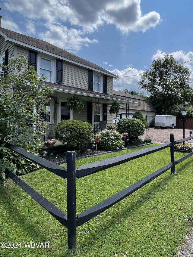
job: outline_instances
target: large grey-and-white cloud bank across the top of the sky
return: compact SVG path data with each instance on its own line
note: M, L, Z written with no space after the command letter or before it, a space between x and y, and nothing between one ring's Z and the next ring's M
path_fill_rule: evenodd
M88 34L103 24L114 24L122 33L144 32L155 27L160 22L160 14L152 10L143 15L140 3L141 0L7 0L3 7L24 16L29 33L34 34L40 27L46 27L46 33L40 35L59 46L61 43L54 37L57 27L63 33L60 39L70 38L69 42L63 42L63 47L67 45L68 49L77 51L82 45L96 42L89 39ZM5 27L10 29L8 22ZM18 31L16 24L11 29Z

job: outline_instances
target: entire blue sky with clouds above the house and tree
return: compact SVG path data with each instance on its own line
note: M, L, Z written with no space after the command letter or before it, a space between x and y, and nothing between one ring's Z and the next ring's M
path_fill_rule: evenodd
M124 77L114 80L115 90L140 92L138 74L165 54L187 62L183 65L193 73L192 0L0 3L2 27L43 39Z

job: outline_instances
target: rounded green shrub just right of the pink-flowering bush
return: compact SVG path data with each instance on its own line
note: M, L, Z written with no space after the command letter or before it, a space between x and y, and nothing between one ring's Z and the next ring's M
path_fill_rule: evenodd
M145 126L143 122L135 118L125 118L120 119L117 123L117 130L120 133L128 133L129 143L134 143L138 141L138 136L142 136L145 131Z

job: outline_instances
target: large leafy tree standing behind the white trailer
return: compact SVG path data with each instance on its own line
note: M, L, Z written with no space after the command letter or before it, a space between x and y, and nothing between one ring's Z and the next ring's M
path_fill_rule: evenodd
M187 67L166 54L163 59L153 60L150 70L143 73L138 84L150 94L149 100L157 114L165 114L172 105L187 103L192 92L190 74Z

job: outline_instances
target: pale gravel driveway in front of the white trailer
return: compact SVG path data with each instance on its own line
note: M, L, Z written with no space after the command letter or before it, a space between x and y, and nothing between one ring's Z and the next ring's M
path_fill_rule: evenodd
M170 134L174 134L174 141L183 138L182 128L149 128L142 138L151 138L153 143L167 143L170 141ZM190 129L185 129L185 138L188 138ZM193 144L193 139L189 141Z

